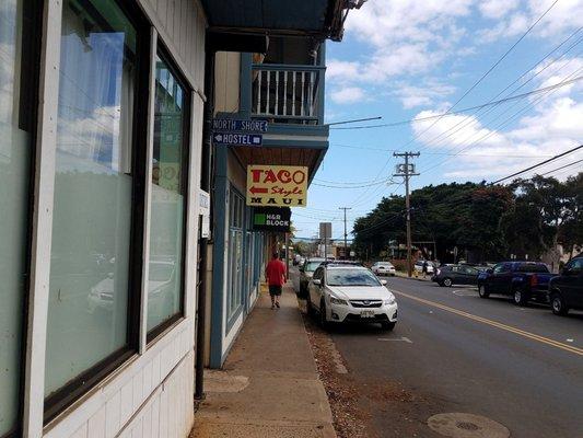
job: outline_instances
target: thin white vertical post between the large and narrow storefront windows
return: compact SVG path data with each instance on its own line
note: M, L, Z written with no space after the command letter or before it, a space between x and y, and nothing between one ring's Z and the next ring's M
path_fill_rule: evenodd
M142 290L140 296L140 341L138 353L143 355L148 337L148 281L150 276L150 222L152 208L152 159L154 155L154 104L155 104L155 64L158 50L158 32L150 30L150 84L148 92L148 134L145 138L145 188L143 201L143 266Z

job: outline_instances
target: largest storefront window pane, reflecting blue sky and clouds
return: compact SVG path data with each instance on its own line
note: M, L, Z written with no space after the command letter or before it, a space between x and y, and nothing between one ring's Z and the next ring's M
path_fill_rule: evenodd
M60 53L49 406L128 347L137 31L114 0L66 0Z

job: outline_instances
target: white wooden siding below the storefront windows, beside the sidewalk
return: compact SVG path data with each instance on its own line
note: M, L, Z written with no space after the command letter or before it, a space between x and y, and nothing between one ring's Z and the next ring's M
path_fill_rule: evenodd
M193 325L185 320L174 327L73 405L45 438L185 438L194 419Z

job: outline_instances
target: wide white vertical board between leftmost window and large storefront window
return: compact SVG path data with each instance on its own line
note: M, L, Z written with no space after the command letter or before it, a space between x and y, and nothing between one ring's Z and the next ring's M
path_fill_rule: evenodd
M48 0L45 2L36 128L31 290L28 293L26 360L24 365L23 436L31 438L40 437L43 433L61 15L61 1Z

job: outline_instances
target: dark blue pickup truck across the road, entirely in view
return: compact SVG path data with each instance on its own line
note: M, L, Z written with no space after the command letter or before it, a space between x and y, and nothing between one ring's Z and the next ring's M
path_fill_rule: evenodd
M544 263L502 262L478 276L478 295L512 296L514 303L526 306L529 300L548 302L549 280L555 277Z

